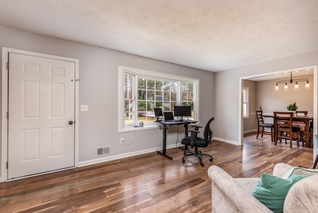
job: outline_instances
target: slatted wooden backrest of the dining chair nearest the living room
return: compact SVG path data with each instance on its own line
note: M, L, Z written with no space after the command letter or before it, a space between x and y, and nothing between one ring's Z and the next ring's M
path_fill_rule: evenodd
M293 112L274 111L274 125L278 131L292 131L293 128Z

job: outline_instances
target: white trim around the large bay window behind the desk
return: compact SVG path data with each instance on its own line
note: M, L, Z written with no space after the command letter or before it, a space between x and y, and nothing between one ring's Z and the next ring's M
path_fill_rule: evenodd
M194 81L193 85L193 93L196 97L195 100L195 107L194 107L194 117L196 120L199 119L199 79L191 78L191 77L184 77L184 76L177 76L177 75L171 75L166 73L159 73L149 70L142 70L142 69L136 69L131 67L125 67L125 66L118 66L118 132L126 132L126 131L136 131L136 130L145 130L145 129L154 129L158 128L158 125L156 122L153 124L147 123L144 127L134 127L133 125L125 126L124 123L124 75L126 73L131 73L136 76L144 76L149 78L159 78L159 79L166 79L168 81ZM137 81L135 81L135 88L137 88ZM178 94L179 94L180 88L178 88ZM136 94L135 94L136 95ZM137 97L137 96L136 96ZM178 97L179 99L179 97ZM179 100L178 100L178 104ZM199 121L199 120L198 120ZM137 125L137 124L135 124Z

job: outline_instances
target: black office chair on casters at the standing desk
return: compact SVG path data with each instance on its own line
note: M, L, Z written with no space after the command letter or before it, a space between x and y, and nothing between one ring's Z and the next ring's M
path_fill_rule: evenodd
M195 155L199 159L201 166L204 166L204 164L202 163L202 159L200 156L209 156L210 161L213 161L213 158L211 155L204 154L204 153L201 153L201 151L198 151L198 147L207 147L211 143L213 132L210 128L210 123L212 122L212 120L214 120L214 117L211 117L209 119L209 121L207 122L204 128L204 132L203 132L204 138L197 137L197 134L199 133L199 128L202 128L202 126L193 125L194 130L192 129L188 130L188 132L191 132L191 136L185 137L181 140L181 144L190 145L191 148L193 148L194 146L194 151L193 150L184 151L183 157L182 157L183 163L185 162L184 158L190 155Z

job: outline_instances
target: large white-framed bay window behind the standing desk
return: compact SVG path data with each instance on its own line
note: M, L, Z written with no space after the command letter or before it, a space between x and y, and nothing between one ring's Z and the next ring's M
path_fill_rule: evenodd
M155 107L191 106L189 119L198 119L198 79L128 67L118 71L118 131L137 130L140 121L144 128L157 127Z

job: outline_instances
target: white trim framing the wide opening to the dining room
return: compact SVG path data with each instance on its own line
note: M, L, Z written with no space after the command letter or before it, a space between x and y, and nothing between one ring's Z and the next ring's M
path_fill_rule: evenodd
M276 72L270 72L270 73L262 73L257 75L251 75L251 76L244 76L239 78L239 145L243 145L243 111L242 111L242 105L243 105L243 98L242 98L242 88L243 88L243 80L249 79L249 78L255 78L255 77L261 77L261 76L269 76L269 75L275 75L275 74L281 74L281 73L290 73L295 72L299 70L306 70L306 69L313 69L314 70L314 134L317 134L317 128L318 128L318 65L308 66L308 67L300 67L295 69L289 69L289 70L281 70ZM312 86L311 86L312 87ZM314 160L315 160L314 156Z

